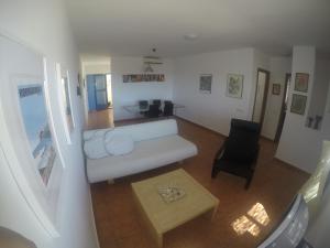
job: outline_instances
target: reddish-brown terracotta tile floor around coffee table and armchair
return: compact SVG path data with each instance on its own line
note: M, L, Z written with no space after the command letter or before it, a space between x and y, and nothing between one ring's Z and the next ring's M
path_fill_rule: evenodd
M132 121L130 121L132 122ZM123 123L117 123L123 125ZM196 218L164 236L164 248L253 248L279 222L286 207L308 174L273 159L276 145L261 139L261 153L251 187L245 181L226 173L211 179L211 164L224 138L215 132L178 119L179 133L197 144L199 154L183 164L117 180L113 185L91 185L94 211L101 248L155 248L132 197L131 182L184 168L199 183L220 200L213 222ZM107 126L105 126L107 127ZM268 217L267 226L258 225L260 234L238 235L231 224L256 203L263 204ZM251 218L250 218L251 219ZM254 222L256 224L256 222Z

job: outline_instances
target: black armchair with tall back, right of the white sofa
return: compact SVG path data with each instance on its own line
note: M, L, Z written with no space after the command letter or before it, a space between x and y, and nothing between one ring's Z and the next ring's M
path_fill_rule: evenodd
M229 137L213 161L212 177L224 171L245 177L245 188L249 188L260 150L260 125L252 121L231 120Z

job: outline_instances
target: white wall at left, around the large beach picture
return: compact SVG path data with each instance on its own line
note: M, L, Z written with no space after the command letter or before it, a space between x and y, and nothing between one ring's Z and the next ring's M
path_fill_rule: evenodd
M76 95L78 54L65 7L58 0L2 1L0 8L0 32L20 40L24 44L43 53L48 61L51 107L58 133L61 151L66 163L62 195L59 198L59 234L52 239L41 227L38 219L26 204L9 172L6 154L0 151L0 225L10 227L42 248L95 248L97 247L90 204L89 185L85 179L84 158L81 153L81 99ZM65 141L64 127L57 103L55 84L55 62L69 69L73 96L73 112L77 127L72 133L73 144ZM0 82L1 84L1 82ZM2 130L2 129L1 129ZM1 145L8 144L0 136Z

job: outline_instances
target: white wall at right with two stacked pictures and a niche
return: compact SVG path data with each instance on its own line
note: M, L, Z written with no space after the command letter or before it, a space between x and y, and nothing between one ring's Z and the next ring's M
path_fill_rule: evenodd
M330 137L330 115L324 116L321 130L306 128L307 110L314 85L316 52L315 47L295 46L293 53L293 83L289 89L288 108L292 105L294 78L296 73L309 74L308 103L304 116L287 111L276 158L293 164L304 171L314 172L321 152L323 139ZM329 94L328 94L329 96Z

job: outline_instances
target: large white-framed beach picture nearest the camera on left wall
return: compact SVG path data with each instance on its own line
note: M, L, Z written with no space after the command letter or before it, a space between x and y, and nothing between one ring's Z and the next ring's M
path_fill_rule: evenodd
M10 62L0 71L0 105L9 106L0 108L1 153L35 218L56 238L64 170L50 97L57 95L56 83L48 82L46 61L38 52L1 35L0 50Z

